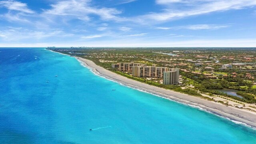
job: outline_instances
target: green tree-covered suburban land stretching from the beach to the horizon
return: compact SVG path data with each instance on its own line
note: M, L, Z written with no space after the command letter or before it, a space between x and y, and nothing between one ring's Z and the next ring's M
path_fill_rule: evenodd
M246 95L256 95L255 48L232 48L232 50L225 48L53 48L52 50L92 60L107 70L152 86L199 97L202 97L200 91L207 92L210 96L218 94L218 96L233 98L241 102L255 103L251 96ZM174 53L177 56L161 53ZM251 59L246 59L248 57ZM131 72L118 72L113 69L111 64L118 62L178 67L182 76L181 84L163 85L160 84L160 79L135 78L130 75ZM196 66L196 63L200 63L200 66ZM238 63L238 65L233 63ZM232 68L222 68L224 64L232 64ZM245 94L243 98L238 98L216 91L216 89L223 88L239 90Z

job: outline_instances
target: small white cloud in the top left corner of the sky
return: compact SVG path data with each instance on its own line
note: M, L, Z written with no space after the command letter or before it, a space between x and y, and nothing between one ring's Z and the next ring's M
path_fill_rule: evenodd
M22 3L22 2L18 2L15 0L3 0L0 1L0 7L5 7L8 10L15 10L15 11L20 11L20 12L24 12L27 14L33 14L34 11L30 10L27 6L27 4Z

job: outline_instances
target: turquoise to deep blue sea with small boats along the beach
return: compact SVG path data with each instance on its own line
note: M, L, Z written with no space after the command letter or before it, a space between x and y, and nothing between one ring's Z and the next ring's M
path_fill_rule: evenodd
M106 80L69 56L0 48L0 144L34 143L256 144L256 130Z

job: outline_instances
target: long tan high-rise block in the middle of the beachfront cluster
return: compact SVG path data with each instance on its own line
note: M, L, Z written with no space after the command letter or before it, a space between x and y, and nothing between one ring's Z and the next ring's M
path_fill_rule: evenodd
M133 66L132 76L163 78L164 72L168 72L170 68L156 66Z

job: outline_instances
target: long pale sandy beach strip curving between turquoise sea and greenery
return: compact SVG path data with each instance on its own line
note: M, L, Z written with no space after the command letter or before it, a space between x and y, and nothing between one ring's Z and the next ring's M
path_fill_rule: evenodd
M256 128L256 113L250 112L248 110L242 110L239 108L235 108L232 106L225 106L218 102L212 102L209 100L204 100L202 98L198 98L195 96L190 96L187 94L182 94L179 92L174 92L171 90L166 90L163 88L158 88L156 86L150 86L148 84L144 84L142 82L138 82L136 80L131 80L124 76L120 76L114 72L106 70L100 66L97 66L91 60L87 60L80 57L75 57L77 60L82 62L88 68L91 68L93 72L96 74L103 76L107 79L114 80L116 82L120 82L125 86L130 86L132 88L140 89L146 92L150 92L152 94L156 94L158 96L162 96L164 98L168 98L170 100L175 100L178 102L182 102L184 104L189 104L191 106L196 106L207 110L208 112L212 112L218 116L222 116L228 118L232 121L236 121L236 123L244 123L248 126Z

